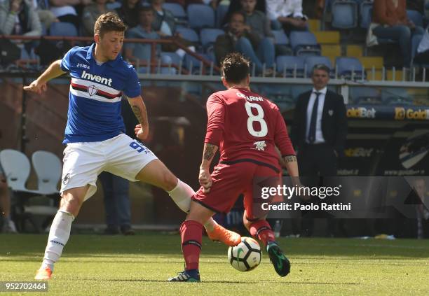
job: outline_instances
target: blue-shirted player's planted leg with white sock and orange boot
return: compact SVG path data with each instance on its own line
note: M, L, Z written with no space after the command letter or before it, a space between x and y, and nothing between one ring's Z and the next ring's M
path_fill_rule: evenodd
M79 213L88 186L66 190L61 199L60 209L50 226L48 244L35 280L46 281L53 273L54 263L60 259L62 249L70 237L71 223Z

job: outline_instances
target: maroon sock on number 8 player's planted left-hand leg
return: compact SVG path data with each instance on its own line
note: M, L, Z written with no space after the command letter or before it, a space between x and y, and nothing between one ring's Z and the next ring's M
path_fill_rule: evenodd
M203 225L193 220L186 220L180 226L182 234L182 252L186 263L185 269L198 269L200 260Z

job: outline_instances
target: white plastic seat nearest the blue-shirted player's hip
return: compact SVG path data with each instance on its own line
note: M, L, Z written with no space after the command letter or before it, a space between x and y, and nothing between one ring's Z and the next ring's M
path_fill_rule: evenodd
M43 195L58 194L57 183L61 178L62 165L57 155L39 150L32 155L37 175L38 191Z

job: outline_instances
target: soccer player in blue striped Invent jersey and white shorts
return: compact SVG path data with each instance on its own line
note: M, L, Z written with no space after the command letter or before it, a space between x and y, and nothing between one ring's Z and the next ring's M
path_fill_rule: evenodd
M142 181L167 191L185 212L195 192L139 141L124 134L121 97L128 102L139 120L135 134L144 140L149 134L146 106L141 86L132 65L121 57L126 27L114 13L100 15L94 26L95 43L71 48L61 59L50 64L39 78L24 90L41 92L46 83L68 72L71 76L69 111L65 129L61 203L52 226L41 268L36 280L50 279L54 263L69 239L71 223L83 202L97 190L97 176L109 171L130 181ZM214 220L205 225L213 240L228 245L240 242L240 235L226 230Z

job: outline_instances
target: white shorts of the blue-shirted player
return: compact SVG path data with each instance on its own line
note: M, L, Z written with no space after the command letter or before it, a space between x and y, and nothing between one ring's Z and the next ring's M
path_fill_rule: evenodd
M64 149L61 190L90 185L85 199L97 191L97 176L102 171L138 181L136 176L158 157L139 141L126 134L101 142L68 143Z

